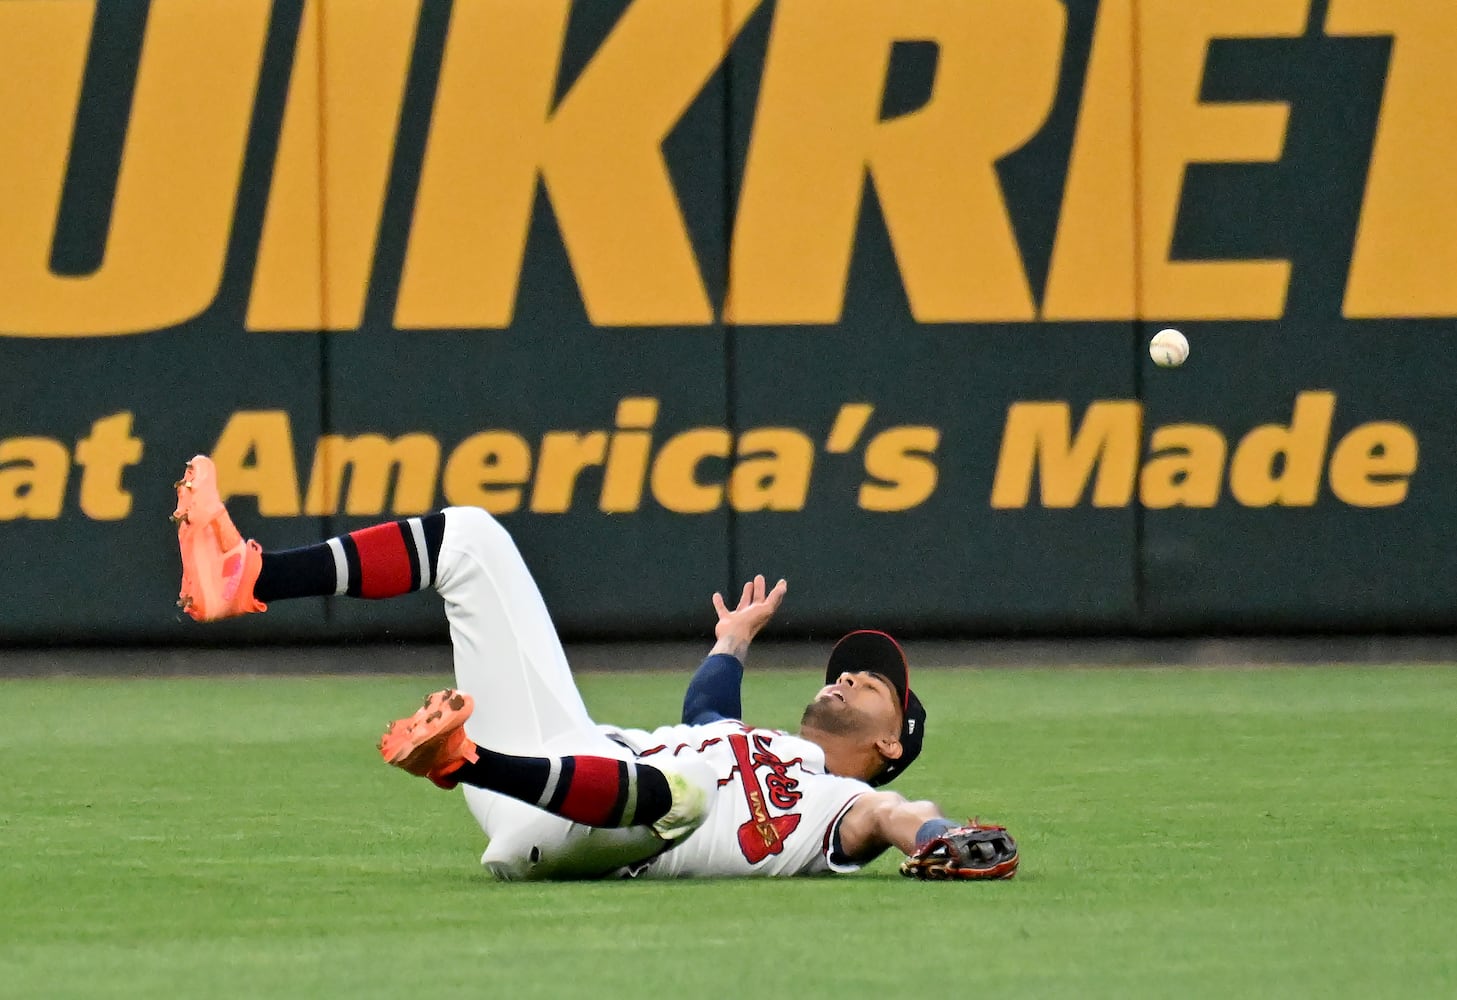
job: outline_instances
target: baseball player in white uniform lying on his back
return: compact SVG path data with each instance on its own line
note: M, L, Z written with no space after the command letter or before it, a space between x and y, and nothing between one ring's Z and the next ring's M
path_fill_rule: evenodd
M884 633L835 646L798 735L740 722L743 657L784 580L768 589L755 577L733 609L714 595L717 643L679 724L618 729L589 717L536 583L485 510L447 507L265 552L233 526L207 456L176 490L178 605L198 621L302 596L440 593L456 687L390 724L380 752L463 787L490 841L481 863L500 879L852 872L892 845L912 862L944 853L959 832L935 805L873 787L909 767L925 735L905 656ZM1016 845L1001 840L965 878L1014 873Z

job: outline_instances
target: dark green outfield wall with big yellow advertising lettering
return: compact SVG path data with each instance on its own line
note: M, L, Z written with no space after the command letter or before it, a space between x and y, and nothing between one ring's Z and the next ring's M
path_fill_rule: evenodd
M571 637L1457 627L1457 7L6 0L0 641L478 504ZM1147 341L1183 329L1190 360Z

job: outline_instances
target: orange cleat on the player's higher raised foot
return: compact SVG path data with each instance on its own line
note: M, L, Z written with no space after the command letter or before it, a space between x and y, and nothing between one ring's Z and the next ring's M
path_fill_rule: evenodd
M243 541L217 493L217 468L198 455L176 481L178 506L172 523L182 550L182 587L178 606L197 621L217 621L268 605L254 598L264 566L262 548Z

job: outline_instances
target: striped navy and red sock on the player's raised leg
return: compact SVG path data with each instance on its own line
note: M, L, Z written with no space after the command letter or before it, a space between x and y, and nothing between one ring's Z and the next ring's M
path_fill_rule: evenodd
M393 598L436 582L444 513L390 520L351 531L316 545L264 552L254 596L262 602L288 598Z

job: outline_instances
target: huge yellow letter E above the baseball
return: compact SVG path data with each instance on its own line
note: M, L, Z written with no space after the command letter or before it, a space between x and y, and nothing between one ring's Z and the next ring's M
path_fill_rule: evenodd
M1174 261L1170 252L1189 163L1275 162L1285 144L1289 108L1284 102L1199 101L1209 41L1298 36L1308 7L1310 0L1141 6L1103 0L1045 318L1273 319L1284 313L1289 261ZM1128 102L1131 93L1136 108ZM1135 274L1131 220L1139 219Z

